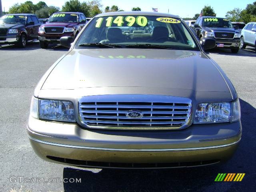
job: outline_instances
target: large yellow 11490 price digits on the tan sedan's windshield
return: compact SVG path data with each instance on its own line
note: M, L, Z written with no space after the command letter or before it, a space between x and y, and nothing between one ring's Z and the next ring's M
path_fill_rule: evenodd
M96 20L96 28L100 28L100 26L102 25L102 22L104 21L104 18L100 17ZM144 16L138 16L138 17L134 17L134 16L126 16L125 18L123 16L117 16L115 19L114 17L108 17L105 19L106 21L106 27L111 27L113 24L118 26L118 27L122 27L122 26L141 26L144 27L148 24L148 19Z

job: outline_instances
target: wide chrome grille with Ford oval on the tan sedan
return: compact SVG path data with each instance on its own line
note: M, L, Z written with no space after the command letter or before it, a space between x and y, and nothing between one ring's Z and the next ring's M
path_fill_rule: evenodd
M131 117L131 112L141 116ZM188 124L190 114L191 100L172 96L105 95L79 100L80 119L92 128L179 129Z

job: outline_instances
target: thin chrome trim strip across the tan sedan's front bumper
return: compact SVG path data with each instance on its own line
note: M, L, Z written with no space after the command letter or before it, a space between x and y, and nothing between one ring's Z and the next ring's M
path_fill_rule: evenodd
M68 147L68 148L78 148L78 149L86 149L86 150L102 150L102 151L140 151L140 152L150 152L150 151L190 151L190 150L204 150L204 149L215 149L215 148L221 148L221 147L228 147L232 146L234 144L237 144L240 142L241 138L233 143L224 144L224 145L217 145L217 146L209 146L209 147L194 147L194 148L175 148L175 149L113 149L113 148L100 148L100 147L86 147L86 146L74 146L74 145L66 145L66 144L58 144L58 143L52 143L47 141L38 140L35 138L32 138L31 136L28 136L31 140L35 142L39 142L42 144L47 145L53 145L58 147Z

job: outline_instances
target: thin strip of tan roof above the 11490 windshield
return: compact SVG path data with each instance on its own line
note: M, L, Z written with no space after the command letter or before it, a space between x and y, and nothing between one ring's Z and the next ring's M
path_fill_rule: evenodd
M159 12L143 12L143 11L118 11L118 12L108 12L96 15L96 17L104 16L116 16L116 15L144 15L144 16L159 16L159 17L172 17L180 19L177 15L159 13Z

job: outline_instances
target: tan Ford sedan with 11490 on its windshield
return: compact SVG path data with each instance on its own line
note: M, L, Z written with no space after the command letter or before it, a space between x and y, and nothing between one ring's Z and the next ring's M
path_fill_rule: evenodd
M178 16L99 14L74 42L66 36L60 43L70 50L44 74L31 101L27 130L40 158L173 168L225 162L236 151L238 95L204 52L216 42L200 44Z

